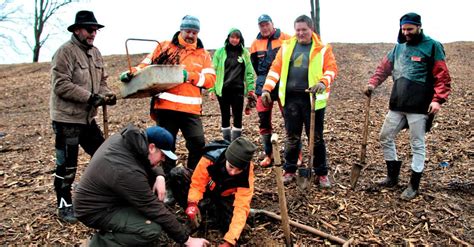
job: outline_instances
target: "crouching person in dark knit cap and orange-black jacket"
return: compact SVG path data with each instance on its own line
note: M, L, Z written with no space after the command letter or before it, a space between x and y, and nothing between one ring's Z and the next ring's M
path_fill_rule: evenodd
M206 145L204 155L192 173L184 167L171 171L173 193L189 219L203 217L216 223L224 234L220 247L234 246L250 212L254 191L252 158L256 146L244 137ZM213 224L208 224L213 227Z

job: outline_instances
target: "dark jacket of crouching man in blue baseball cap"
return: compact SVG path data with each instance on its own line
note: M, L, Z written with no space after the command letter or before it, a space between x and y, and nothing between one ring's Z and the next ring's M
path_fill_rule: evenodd
M125 127L99 147L82 175L74 197L76 216L100 229L111 212L133 207L176 242L186 242L189 236L176 216L153 193L157 175L164 173L151 168L146 134L133 125Z

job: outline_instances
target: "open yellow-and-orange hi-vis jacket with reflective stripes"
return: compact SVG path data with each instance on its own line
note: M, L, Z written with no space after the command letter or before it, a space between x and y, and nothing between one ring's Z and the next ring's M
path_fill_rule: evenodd
M318 110L327 105L327 100L331 91L331 84L337 75L337 65L334 54L332 53L332 47L329 44L324 45L315 33L312 35L312 41L308 66L308 86L312 87L318 82L323 82L324 85L326 85L326 91L316 96L315 109ZM272 67L268 72L265 85L263 86L264 90L271 92L278 81L280 81L278 93L283 106L285 105L286 82L288 80L290 59L293 49L296 46L296 42L296 36L283 42L282 47L280 51L278 51L275 61L273 61Z

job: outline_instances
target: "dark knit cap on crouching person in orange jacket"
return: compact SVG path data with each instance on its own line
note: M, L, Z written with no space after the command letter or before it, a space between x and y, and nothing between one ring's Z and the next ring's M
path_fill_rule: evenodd
M256 149L257 147L252 142L239 137L229 145L225 151L225 158L233 166L245 170L250 165Z

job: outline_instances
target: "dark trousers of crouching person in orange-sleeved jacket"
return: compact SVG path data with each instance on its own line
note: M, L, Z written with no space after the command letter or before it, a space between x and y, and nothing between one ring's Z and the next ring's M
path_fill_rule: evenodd
M191 177L192 171L182 166L173 168L170 173L169 180L173 195L183 209L188 206ZM203 199L198 204L202 219L211 222L211 227L215 226L222 233L226 233L234 215L234 200L234 195L221 196L206 188ZM203 224L207 223L203 222Z

